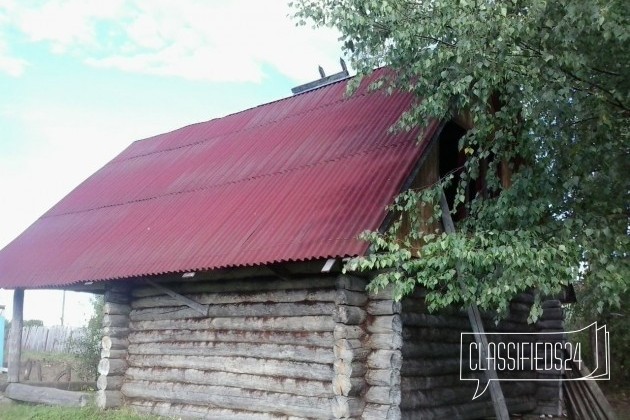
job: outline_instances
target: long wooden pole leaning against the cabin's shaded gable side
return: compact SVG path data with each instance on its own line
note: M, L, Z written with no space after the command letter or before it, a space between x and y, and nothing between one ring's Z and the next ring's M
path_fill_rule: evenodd
M451 218L451 210L448 207L448 202L446 201L446 195L444 191L442 191L442 196L440 197L440 207L442 209L442 224L444 225L444 230L448 234L455 233L455 224L453 223L453 219ZM459 277L459 268L457 269L457 277L460 282L460 286L463 288L464 283ZM481 314L479 313L479 308L477 305L470 305L468 307L468 319L470 320L470 325L472 327L473 332L475 333L475 341L479 345L481 357L480 362L484 366L486 380L489 382L490 388L490 396L492 397L492 405L494 407L494 413L496 418L499 420L509 420L510 414L507 409L507 404L505 403L505 397L503 396L503 391L501 390L501 384L498 381L499 377L497 376L496 370L492 366L487 365L484 361L487 360L487 351L488 351L488 338L485 335L485 331L483 328L483 321L481 319Z

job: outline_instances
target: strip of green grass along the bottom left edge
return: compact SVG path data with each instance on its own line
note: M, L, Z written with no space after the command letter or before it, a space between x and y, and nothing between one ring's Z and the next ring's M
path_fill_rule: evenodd
M3 404L1 420L157 420L159 417L136 414L128 409L101 411L95 407L67 408L29 404Z

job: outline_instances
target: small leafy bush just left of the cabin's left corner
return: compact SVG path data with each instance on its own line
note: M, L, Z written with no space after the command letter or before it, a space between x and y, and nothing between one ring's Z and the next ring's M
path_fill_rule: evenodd
M79 359L78 374L86 380L96 379L98 362L101 358L101 329L103 326L103 296L92 298L93 313L85 327L85 334L70 343L70 351Z

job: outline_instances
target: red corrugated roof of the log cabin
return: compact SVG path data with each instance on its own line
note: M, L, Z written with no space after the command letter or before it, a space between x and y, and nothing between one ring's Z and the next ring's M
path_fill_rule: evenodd
M420 156L411 104L335 83L136 141L0 251L1 287L362 254ZM430 136L437 124L430 124Z

